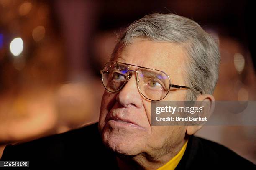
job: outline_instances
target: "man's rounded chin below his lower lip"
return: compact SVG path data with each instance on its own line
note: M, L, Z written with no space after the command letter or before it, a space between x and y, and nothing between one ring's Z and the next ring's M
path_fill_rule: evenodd
M138 155L142 152L140 138L134 134L114 133L106 129L102 133L102 141L106 147L120 155Z

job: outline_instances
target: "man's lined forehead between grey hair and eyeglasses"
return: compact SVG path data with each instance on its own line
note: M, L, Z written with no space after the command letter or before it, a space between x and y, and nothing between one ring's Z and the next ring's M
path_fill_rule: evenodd
M136 38L116 51L113 60L178 74L184 70L186 57L179 44Z

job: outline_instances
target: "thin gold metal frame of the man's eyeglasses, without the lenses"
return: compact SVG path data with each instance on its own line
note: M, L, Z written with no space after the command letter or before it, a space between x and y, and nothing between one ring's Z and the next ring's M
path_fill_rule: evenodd
M109 91L110 93L116 93L116 92L120 91L121 89L123 89L123 87L125 86L125 84L126 84L126 83L129 81L129 79L131 79L131 77L132 77L132 74L130 73L130 71L131 71L131 72L136 72L136 84L137 84L137 88L138 88L140 94L142 94L146 99L148 99L148 97L146 97L146 96L141 92L141 89L140 89L139 86L138 86L138 82L139 82L139 80L138 80L138 70L139 70L140 68L160 71L160 72L164 73L164 74L168 77L168 79L169 79L169 89L168 89L168 92L166 93L166 95L165 95L162 99L164 99L164 98L167 96L167 94L169 93L171 87L177 88L177 89L180 89L180 88L191 89L190 87L187 87L187 86L180 86L180 85L176 85L176 84L171 84L171 79L170 79L169 75L166 74L164 71L161 71L161 70L151 69L151 68L142 67L142 66L136 66L136 65L133 65L133 64L122 63L122 62L119 62L119 61L108 61L107 63L105 63L104 68L105 68L105 66L106 66L108 63L113 63L113 64L115 64L115 63L120 63L120 64L124 64L124 65L126 65L126 66L128 67L128 71L127 71L128 76L125 78L125 82L123 83L123 85L122 85L117 91L109 91L109 90L105 87L104 82L103 82L103 73L104 73L104 71L103 71L103 70L100 70L102 84L103 84L103 86L105 87L105 89L106 89L107 91ZM137 70L131 70L131 69L130 69L130 66L136 66L136 67L138 67L138 69L137 69ZM128 72L129 72L130 74L129 74ZM159 99L159 100L162 100L162 99ZM148 99L148 100L151 100L151 101L159 101L159 100L152 100L152 99Z

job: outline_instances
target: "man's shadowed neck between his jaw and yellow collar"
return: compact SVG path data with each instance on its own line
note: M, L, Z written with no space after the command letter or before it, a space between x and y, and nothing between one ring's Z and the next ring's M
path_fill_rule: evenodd
M184 142L172 148L169 152L157 154L141 153L135 156L118 155L117 162L120 170L156 170L165 165L182 149Z

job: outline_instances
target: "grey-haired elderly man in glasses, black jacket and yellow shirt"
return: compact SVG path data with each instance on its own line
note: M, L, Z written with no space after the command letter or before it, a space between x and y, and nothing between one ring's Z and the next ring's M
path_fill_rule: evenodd
M106 90L99 122L8 145L2 160L94 169L255 168L227 148L194 137L201 126L151 125L151 101L214 101L219 63L218 45L194 21L146 15L124 30L101 71Z

